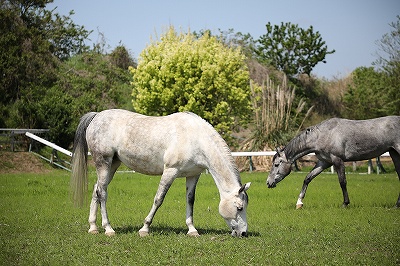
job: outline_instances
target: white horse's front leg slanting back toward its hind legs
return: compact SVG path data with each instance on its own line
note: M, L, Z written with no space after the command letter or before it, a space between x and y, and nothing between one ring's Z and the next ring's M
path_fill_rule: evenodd
M172 182L175 180L177 175L178 170L175 168L164 169L164 172L161 176L160 184L158 185L157 193L154 197L153 206L151 207L151 210L147 217L144 219L143 227L139 230L140 236L147 236L149 234L149 227L153 222L154 215L163 203L165 195L167 194L169 188L172 185Z

